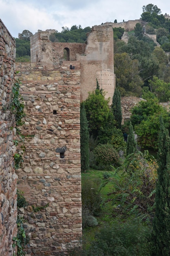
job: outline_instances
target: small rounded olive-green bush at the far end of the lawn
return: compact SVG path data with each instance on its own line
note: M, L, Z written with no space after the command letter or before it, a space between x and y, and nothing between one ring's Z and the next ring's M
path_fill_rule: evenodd
M94 149L95 159L97 164L117 164L119 161L119 155L113 145L111 144L99 144Z

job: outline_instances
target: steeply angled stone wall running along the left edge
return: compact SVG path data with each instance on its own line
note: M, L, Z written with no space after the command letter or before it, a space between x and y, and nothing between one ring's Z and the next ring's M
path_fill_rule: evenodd
M14 83L15 41L0 20L0 255L12 256L17 235L16 178L13 169L14 117L10 114Z

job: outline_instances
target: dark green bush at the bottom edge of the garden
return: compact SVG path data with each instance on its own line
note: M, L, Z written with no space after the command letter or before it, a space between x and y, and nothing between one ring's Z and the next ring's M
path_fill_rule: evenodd
M150 229L139 221L115 222L99 230L87 255L149 256L149 236Z

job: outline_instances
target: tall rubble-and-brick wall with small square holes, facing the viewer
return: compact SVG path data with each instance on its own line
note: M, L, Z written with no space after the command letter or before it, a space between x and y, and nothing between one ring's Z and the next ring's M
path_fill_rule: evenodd
M17 63L16 70L26 112L24 162L17 171L29 202L26 255L65 255L66 245L82 237L80 70L46 63Z

